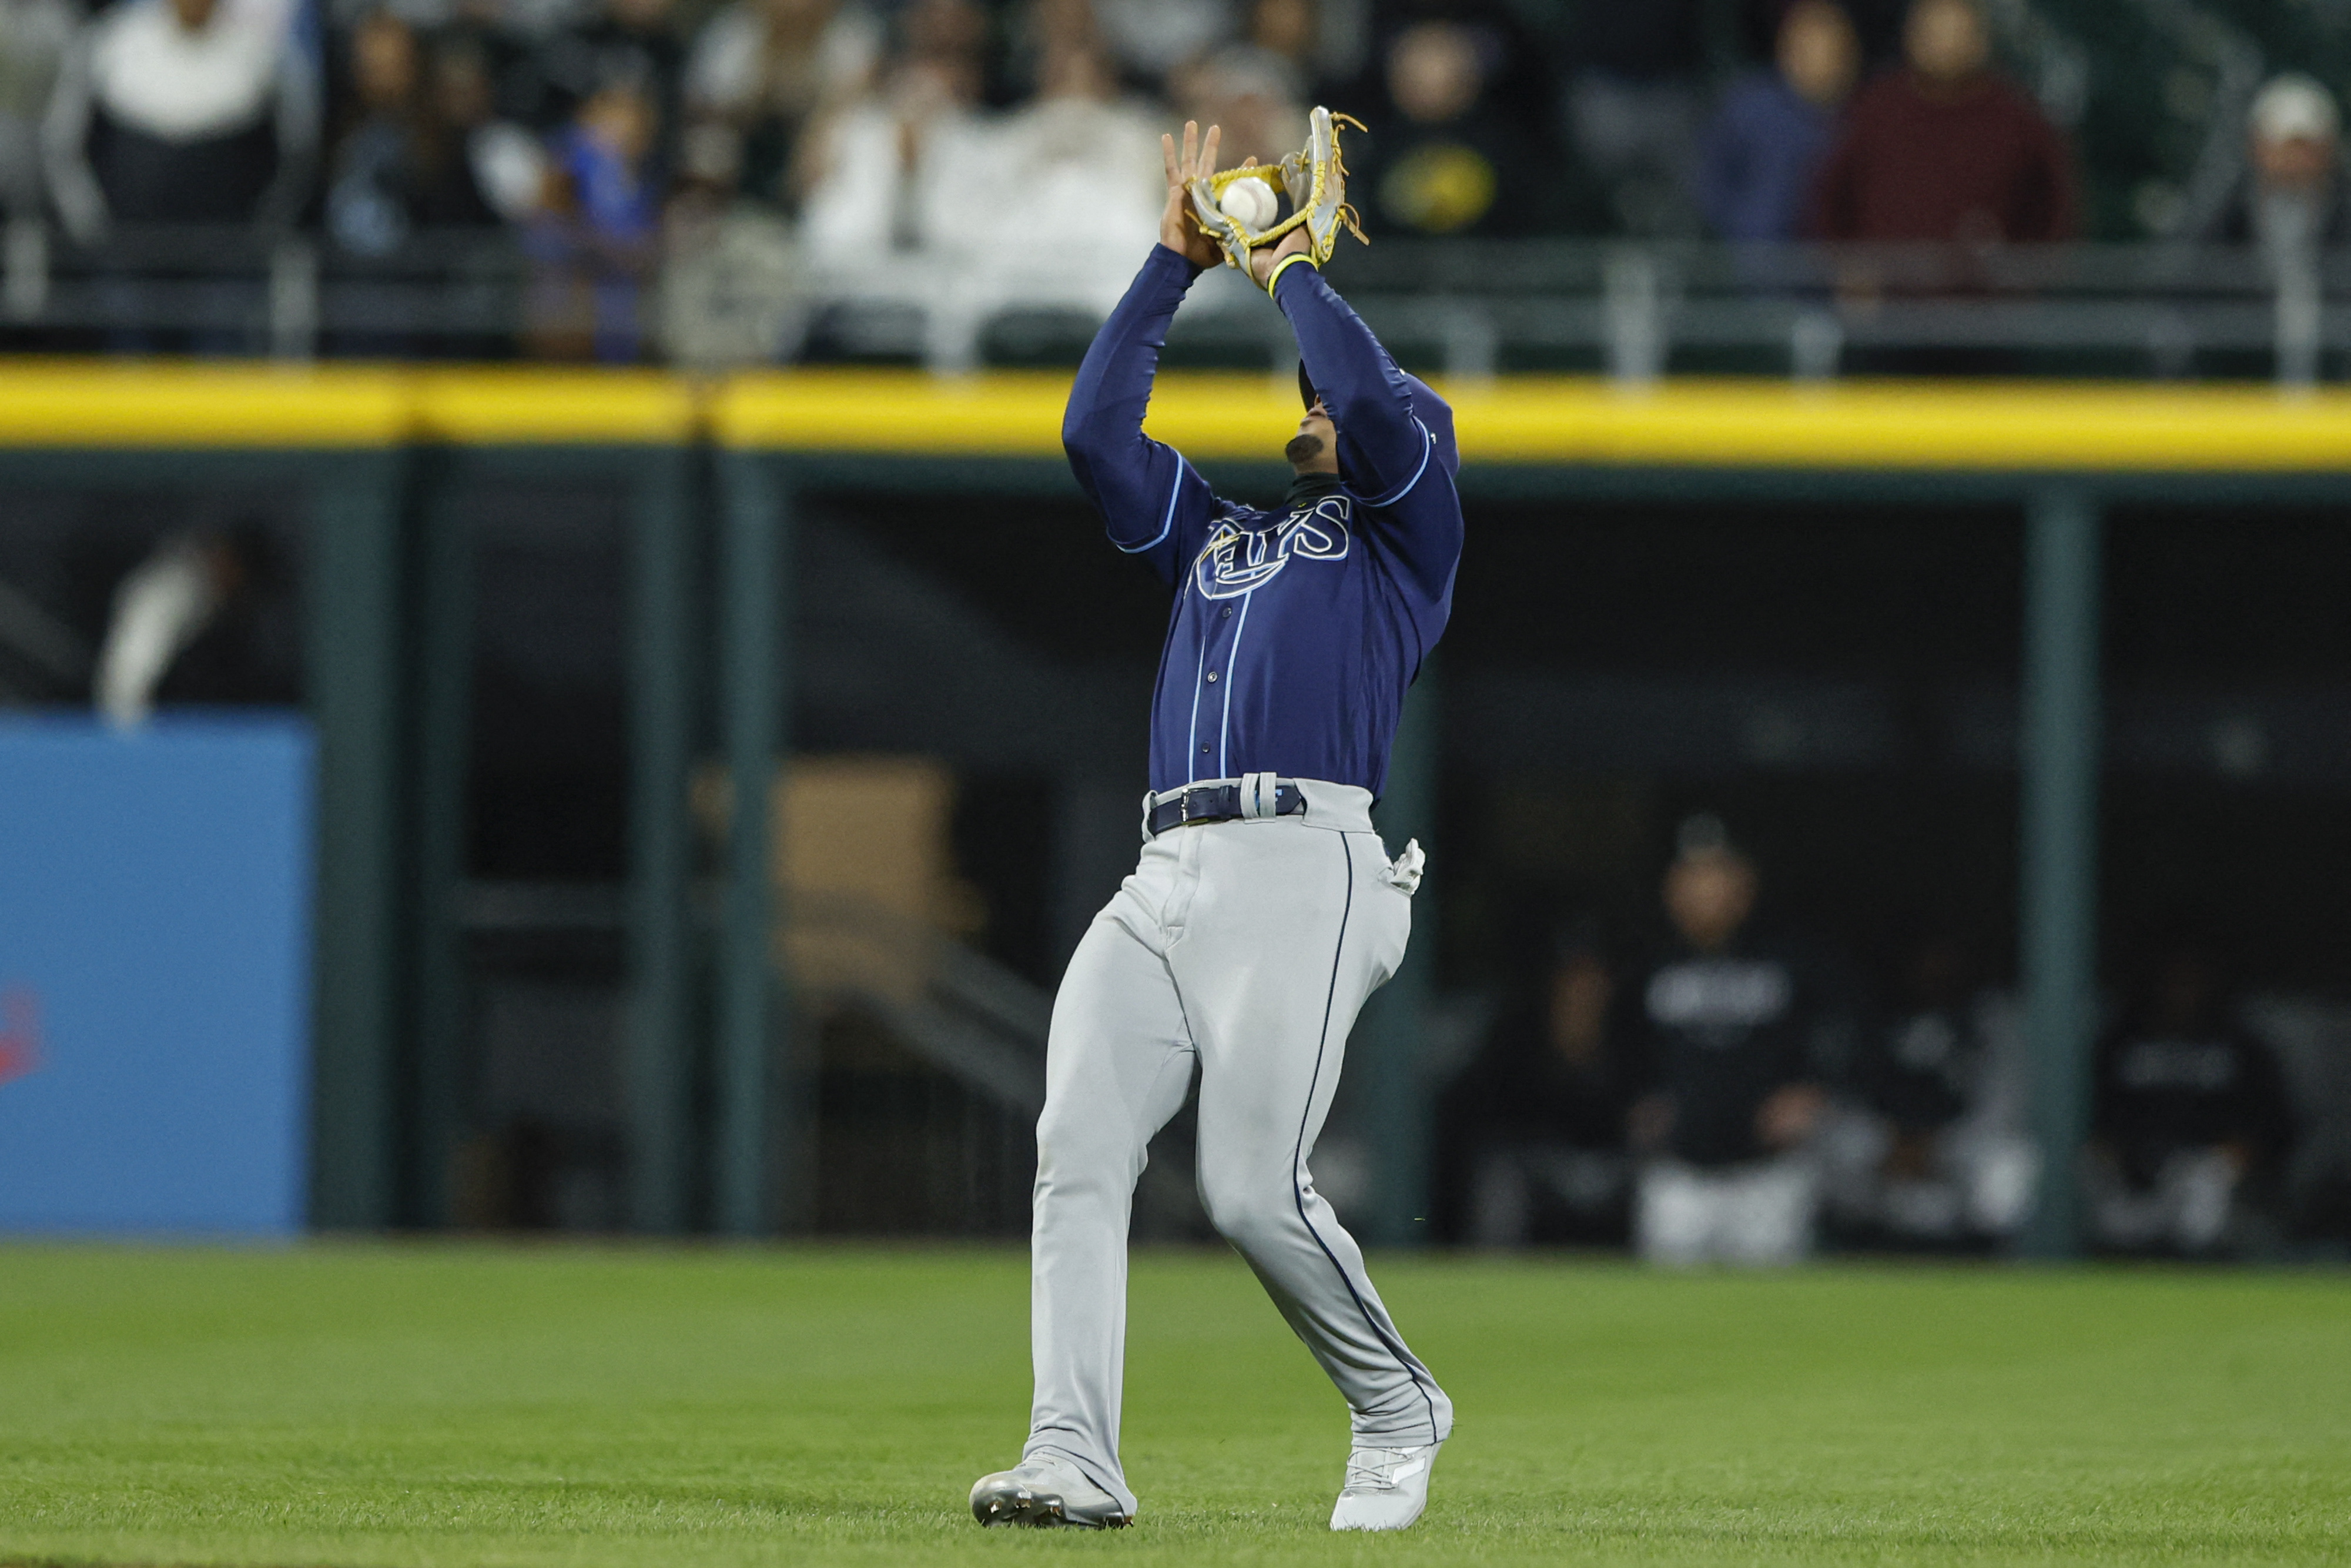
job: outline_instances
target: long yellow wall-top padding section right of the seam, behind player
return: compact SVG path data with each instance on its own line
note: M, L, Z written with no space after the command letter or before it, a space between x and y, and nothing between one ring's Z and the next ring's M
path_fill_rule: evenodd
M717 437L778 451L1058 456L1067 376L776 374L729 383ZM1502 378L1441 388L1462 461L1617 468L2351 470L2351 395L2109 383ZM1164 376L1147 428L1194 458L1274 461L1295 383Z

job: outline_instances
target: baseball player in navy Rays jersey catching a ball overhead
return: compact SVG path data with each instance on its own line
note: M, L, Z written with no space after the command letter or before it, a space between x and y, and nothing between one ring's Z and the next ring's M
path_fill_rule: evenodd
M1143 557L1176 604L1152 698L1143 860L1053 1001L1030 1439L1016 1469L971 1488L971 1512L980 1523L1133 1521L1119 1467L1126 1225L1145 1145L1197 1072L1208 1218L1352 1413L1331 1528L1399 1530L1427 1502L1453 1401L1406 1349L1307 1159L1357 1009L1404 957L1420 882L1420 849L1389 860L1371 804L1404 691L1453 602L1453 414L1331 292L1314 235L1298 228L1237 254L1298 336L1307 411L1284 449L1286 503L1227 501L1143 435L1168 320L1218 261L1187 207L1187 181L1215 167L1218 129L1194 141L1194 125L1180 153L1164 139L1159 247L1093 339L1063 421L1110 543ZM1321 197L1335 214L1331 165Z

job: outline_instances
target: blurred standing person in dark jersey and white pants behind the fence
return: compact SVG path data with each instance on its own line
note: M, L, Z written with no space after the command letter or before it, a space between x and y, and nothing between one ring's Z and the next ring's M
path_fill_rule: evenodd
M1641 987L1653 1088L1632 1112L1650 1157L1634 1234L1653 1262L1796 1262L1813 1248L1822 1004L1784 950L1747 933L1756 891L1719 818L1681 825L1665 875L1676 947Z

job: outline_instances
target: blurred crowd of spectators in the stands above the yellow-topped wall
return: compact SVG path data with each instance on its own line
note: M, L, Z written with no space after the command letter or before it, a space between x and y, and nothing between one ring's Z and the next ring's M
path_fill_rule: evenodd
M2346 73L2330 0L7 0L5 327L33 348L1065 360L1081 331L1002 317L1117 296L1154 233L1159 132L1213 120L1232 162L1277 158L1319 101L1368 127L1347 160L1373 237L1448 242L1366 261L1366 287L1603 294L1617 339L1660 289L1667 313L1709 280L1813 294L1834 308L1789 353L1834 369L1888 296L2323 296L2351 233ZM1925 254L1780 254L1815 242ZM2245 261L1994 261L2069 242ZM1446 331L1436 357L1491 369L1460 341L1476 324ZM1944 331L1897 367L2017 369L2085 331ZM1545 334L1500 336L1523 357ZM2088 336L2182 374L2245 334L2139 313Z

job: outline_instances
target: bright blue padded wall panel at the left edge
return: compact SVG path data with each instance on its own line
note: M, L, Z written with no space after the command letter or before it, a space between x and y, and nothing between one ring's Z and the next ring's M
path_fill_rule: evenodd
M0 1229L301 1227L310 835L299 717L0 719Z

